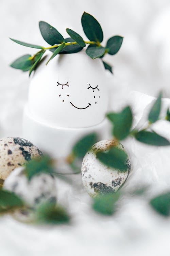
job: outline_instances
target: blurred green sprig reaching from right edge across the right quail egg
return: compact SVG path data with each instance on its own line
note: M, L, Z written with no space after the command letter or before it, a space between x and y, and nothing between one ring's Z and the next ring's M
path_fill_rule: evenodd
M155 100L151 110L148 113L148 125L146 128L132 129L133 124L133 113L130 106L126 106L122 111L115 113L109 112L106 117L112 123L112 134L113 140L116 142L112 147L109 147L106 151L97 151L96 157L104 163L106 166L111 168L119 169L122 172L127 171L126 160L128 158L126 152L120 150L116 145L125 140L126 138L134 137L137 141L153 145L153 146L168 146L170 142L154 132L152 125L159 120L161 110L162 92L159 93L158 98ZM170 120L169 109L165 120ZM76 159L82 159L90 147L95 144L98 140L96 133L90 133L81 138L75 143L72 148L72 153L67 158L67 162L72 167L74 173L80 172L75 162Z

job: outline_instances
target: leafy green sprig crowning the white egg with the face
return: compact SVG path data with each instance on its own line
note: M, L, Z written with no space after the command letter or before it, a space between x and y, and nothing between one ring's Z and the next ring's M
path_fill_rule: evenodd
M10 38L12 41L20 45L40 49L40 51L35 53L33 56L26 54L19 57L10 66L22 71L29 71L30 75L32 71L35 70L47 50L50 50L53 54L47 61L46 65L57 54L78 53L82 51L86 45L88 45L86 54L92 59L103 58L107 53L115 55L119 51L123 37L115 35L107 40L105 46L102 46L103 31L99 22L92 15L84 12L81 18L81 23L84 33L89 41L84 40L81 35L70 28L66 28L66 32L69 34L70 38L64 38L57 29L44 21L39 22L39 29L44 40L51 46L44 47ZM113 73L112 66L103 60L102 62L104 68Z

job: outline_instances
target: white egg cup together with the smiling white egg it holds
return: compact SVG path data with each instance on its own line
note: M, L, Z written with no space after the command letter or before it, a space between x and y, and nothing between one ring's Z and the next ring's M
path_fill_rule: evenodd
M101 59L92 60L84 50L58 55L46 66L51 54L31 78L22 136L60 158L88 133L109 139L108 82Z

